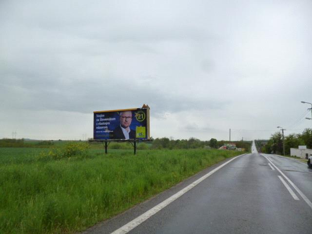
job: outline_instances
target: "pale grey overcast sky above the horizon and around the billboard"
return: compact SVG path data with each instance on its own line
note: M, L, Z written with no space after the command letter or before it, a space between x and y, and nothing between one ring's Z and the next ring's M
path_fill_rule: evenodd
M0 0L0 138L93 137L151 107L151 136L312 127L312 1Z

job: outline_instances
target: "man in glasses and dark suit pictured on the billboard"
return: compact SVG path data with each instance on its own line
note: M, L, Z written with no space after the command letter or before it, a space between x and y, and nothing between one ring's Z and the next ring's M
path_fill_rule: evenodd
M114 139L135 139L136 130L130 128L132 121L132 111L122 111L119 114L120 125L113 131Z

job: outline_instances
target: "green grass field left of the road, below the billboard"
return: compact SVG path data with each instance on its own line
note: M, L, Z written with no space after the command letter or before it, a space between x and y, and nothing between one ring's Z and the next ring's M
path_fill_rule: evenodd
M39 160L50 149L0 148L0 233L74 233L241 152L90 149Z

